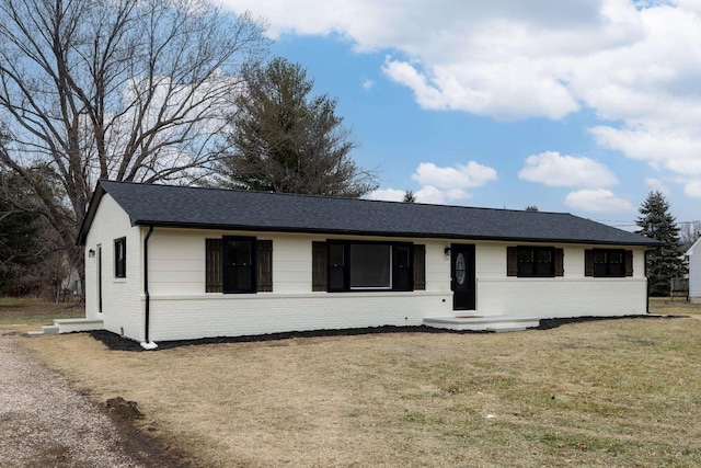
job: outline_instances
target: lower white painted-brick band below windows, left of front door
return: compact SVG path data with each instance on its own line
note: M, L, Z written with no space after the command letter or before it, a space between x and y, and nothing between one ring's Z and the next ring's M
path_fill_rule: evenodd
M440 293L313 293L159 297L153 341L361 327L420 326L427 310L451 313Z

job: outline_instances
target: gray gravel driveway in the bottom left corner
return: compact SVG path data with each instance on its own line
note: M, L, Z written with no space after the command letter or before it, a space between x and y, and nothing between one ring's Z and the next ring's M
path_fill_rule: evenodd
M172 466L0 330L0 467ZM39 338L41 340L41 338Z

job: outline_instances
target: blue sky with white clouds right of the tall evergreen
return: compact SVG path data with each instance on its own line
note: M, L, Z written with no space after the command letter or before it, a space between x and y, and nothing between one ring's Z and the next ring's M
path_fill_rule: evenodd
M222 0L338 100L370 197L701 219L701 1Z

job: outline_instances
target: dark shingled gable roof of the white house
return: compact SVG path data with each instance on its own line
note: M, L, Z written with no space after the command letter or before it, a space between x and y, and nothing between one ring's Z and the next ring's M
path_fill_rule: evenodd
M133 226L463 240L655 246L657 241L564 213L470 208L102 180L80 229L84 244L108 193Z

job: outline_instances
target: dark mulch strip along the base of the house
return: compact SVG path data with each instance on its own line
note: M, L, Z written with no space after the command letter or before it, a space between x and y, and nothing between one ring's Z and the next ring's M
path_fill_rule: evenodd
M621 319L671 319L682 318L683 316L622 316L622 317L574 317L566 319L542 319L538 327L531 327L528 330L551 330L564 324L589 322L598 320L621 320ZM102 341L105 346L113 351L146 351L141 345L133 340L119 336L106 330L96 330L89 332L95 340ZM202 338L197 340L177 340L161 341L158 343L158 350L170 350L180 346L192 346L198 344L220 344L220 343L254 343L262 341L279 341L290 340L294 338L318 338L318 336L354 336L361 334L375 333L451 333L451 334L474 334L474 333L494 333L494 331L474 331L474 330L448 330L426 326L420 327L367 327L340 330L311 330L311 331L292 331L284 333L267 333L245 336L215 336Z

